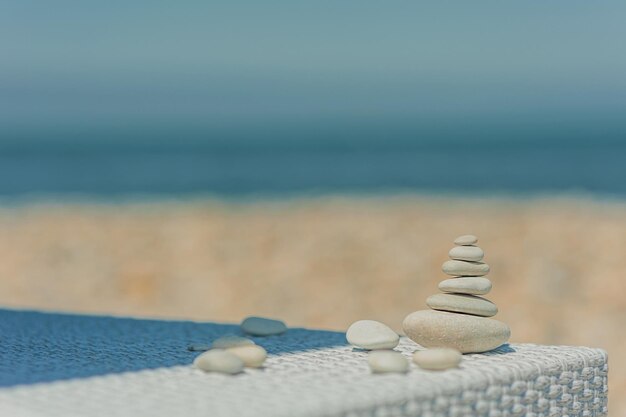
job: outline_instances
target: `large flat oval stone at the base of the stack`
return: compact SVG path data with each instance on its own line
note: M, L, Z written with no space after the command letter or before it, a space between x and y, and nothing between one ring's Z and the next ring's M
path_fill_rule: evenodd
M433 310L409 314L402 328L411 340L424 347L448 347L461 353L486 352L511 337L509 326L498 320Z

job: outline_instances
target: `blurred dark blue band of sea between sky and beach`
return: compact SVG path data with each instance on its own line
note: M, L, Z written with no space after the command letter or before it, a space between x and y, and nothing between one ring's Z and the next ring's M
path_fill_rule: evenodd
M50 140L0 144L0 196L583 193L626 197L626 141Z

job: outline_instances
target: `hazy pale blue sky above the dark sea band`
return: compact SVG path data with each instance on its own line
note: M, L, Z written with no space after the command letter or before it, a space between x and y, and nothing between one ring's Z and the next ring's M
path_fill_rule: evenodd
M626 3L4 0L0 140L307 126L626 131Z

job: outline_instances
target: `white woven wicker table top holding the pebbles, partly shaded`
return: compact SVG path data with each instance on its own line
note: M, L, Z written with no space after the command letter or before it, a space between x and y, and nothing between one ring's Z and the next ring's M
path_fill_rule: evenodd
M0 416L600 416L601 349L505 345L458 369L373 375L339 332L253 338L263 369L227 376L189 364L190 343L238 326L0 310ZM420 347L402 338L410 357Z

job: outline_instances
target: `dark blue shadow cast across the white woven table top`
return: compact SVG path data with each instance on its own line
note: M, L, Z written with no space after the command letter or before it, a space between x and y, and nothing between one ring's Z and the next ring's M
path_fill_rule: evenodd
M199 352L238 325L140 320L0 309L0 387L110 373L188 365ZM341 332L289 329L253 337L270 354L347 344Z

